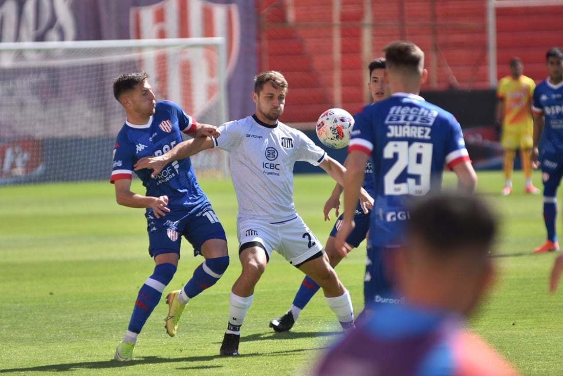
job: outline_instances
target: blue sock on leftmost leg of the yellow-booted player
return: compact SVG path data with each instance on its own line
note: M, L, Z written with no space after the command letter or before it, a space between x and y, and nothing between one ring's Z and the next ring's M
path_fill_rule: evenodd
M163 263L154 267L153 275L148 277L139 290L127 328L129 332L141 333L142 327L153 312L154 307L158 305L164 288L170 283L175 272L176 266L171 263Z

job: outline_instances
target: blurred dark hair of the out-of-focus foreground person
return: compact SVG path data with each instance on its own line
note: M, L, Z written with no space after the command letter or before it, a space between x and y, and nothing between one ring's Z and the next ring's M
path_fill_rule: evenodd
M409 234L439 256L469 251L476 257L489 254L497 227L495 215L482 200L462 193L440 193L415 202L407 225Z

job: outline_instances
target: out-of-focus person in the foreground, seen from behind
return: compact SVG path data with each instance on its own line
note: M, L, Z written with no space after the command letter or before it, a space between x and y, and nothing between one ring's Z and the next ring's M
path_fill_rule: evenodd
M410 210L406 229L408 243L396 257L405 304L369 317L314 374L516 375L465 323L494 275L497 222L488 207L468 194L431 195Z

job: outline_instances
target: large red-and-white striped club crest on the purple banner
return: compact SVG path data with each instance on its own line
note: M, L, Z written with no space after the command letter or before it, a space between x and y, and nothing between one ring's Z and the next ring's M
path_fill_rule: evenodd
M240 47L240 15L236 3L164 0L132 7L129 19L131 39L224 37L227 77L235 68ZM139 69L149 73L157 98L174 101L197 118L218 100L216 59L213 47L189 49L180 59L155 51L139 56ZM207 60L207 64L202 60ZM203 66L212 68L202 69Z

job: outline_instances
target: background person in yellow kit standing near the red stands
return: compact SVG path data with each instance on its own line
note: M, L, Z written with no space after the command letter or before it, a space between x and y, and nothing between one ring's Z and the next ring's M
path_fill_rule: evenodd
M512 193L512 172L516 149L520 148L522 169L526 178L526 193L538 194L539 189L531 182L531 149L533 141L533 120L531 101L535 82L522 72L524 64L518 57L510 61L510 75L501 78L497 88L497 123L502 124L501 143L504 147L504 189L502 195Z

